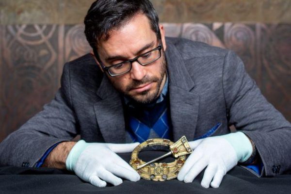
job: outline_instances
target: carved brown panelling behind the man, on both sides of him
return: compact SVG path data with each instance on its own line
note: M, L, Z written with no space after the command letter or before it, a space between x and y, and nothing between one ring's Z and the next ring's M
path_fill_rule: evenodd
M201 1L196 12L207 12L212 9L210 5L205 7ZM236 51L264 96L291 121L290 24L164 26L168 36ZM0 141L53 98L64 63L89 51L82 24L0 26Z

